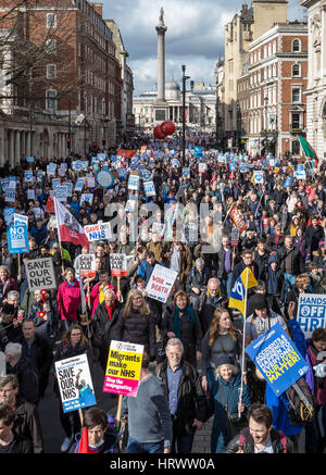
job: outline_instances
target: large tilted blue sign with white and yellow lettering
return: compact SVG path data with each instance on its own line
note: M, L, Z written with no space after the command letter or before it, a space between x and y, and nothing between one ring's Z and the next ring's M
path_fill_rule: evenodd
M246 351L277 397L309 370L279 323L249 345Z

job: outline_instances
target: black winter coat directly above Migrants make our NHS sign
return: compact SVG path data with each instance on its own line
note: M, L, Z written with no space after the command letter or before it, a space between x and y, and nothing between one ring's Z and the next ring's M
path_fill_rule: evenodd
M146 352L151 359L156 355L155 322L151 313L143 315L133 310L131 315L125 317L124 310L121 310L113 336L113 339L117 341L143 345Z

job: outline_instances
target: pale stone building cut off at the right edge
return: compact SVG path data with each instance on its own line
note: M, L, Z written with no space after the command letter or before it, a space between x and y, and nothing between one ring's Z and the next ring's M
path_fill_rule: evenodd
M304 0L308 12L309 66L306 139L319 163L326 159L326 0Z

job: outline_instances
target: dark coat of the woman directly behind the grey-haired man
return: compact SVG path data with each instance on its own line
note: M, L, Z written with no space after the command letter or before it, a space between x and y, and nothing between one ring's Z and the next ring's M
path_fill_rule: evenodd
M174 305L172 308L167 307L164 312L162 321L163 348L166 347L168 340L167 333L173 332L174 312ZM185 314L180 317L180 340L184 345L184 360L197 366L196 351L201 351L202 330L196 310L195 318L196 322L191 323L187 322Z

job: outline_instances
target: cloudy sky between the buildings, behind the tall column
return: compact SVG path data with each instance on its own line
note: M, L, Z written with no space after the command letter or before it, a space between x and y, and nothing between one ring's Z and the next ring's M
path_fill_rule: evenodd
M156 84L156 30L160 9L164 9L165 79L180 82L181 64L193 80L214 84L218 55L224 57L224 25L242 3L237 0L111 0L103 1L103 17L120 27L127 63L134 73L135 96ZM299 0L289 0L288 20L302 21L305 9Z

